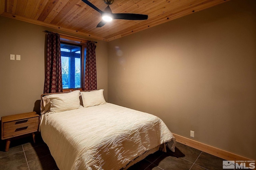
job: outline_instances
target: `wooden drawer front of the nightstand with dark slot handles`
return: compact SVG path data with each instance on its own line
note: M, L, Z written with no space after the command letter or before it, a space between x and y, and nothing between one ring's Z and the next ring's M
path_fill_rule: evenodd
M38 117L6 122L3 125L3 139L36 132L38 129Z

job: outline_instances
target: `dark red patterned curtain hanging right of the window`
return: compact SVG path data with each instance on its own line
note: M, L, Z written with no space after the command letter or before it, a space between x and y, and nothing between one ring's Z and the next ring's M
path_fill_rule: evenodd
M84 90L97 90L95 49L96 45L94 42L88 41L86 47Z

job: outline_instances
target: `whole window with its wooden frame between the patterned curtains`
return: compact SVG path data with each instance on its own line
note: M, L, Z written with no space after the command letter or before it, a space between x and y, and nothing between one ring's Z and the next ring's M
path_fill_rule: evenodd
M86 42L64 35L60 35L60 40L63 91L82 90L84 86Z

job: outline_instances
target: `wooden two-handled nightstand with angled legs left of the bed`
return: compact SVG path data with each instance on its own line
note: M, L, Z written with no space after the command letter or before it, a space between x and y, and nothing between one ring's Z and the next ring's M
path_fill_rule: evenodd
M32 133L33 141L35 143L35 133L38 131L40 116L35 112L20 113L16 115L3 116L1 118L2 124L2 140L6 139L5 151L10 147L10 139L20 135Z

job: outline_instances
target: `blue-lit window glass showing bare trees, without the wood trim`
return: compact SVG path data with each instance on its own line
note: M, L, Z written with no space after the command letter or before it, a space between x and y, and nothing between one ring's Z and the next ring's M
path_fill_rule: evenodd
M81 47L61 43L62 88L81 88Z

